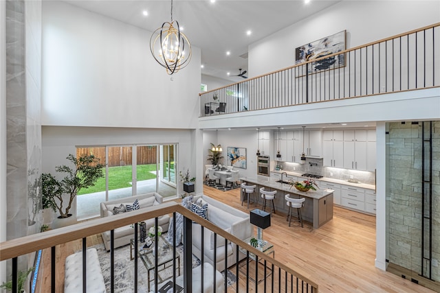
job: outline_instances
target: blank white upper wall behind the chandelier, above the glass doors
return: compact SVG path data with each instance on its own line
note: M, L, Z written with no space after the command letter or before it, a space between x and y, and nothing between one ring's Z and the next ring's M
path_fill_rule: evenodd
M200 49L178 73L151 56L151 32L43 1L42 124L195 128Z

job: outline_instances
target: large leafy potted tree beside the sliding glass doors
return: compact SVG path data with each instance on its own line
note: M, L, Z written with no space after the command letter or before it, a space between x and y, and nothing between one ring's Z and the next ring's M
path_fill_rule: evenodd
M102 164L93 154L83 154L78 159L69 154L67 160L74 164L74 168L61 165L55 167L56 172L65 174L62 180L57 180L51 174L42 174L43 198L47 200L47 207L56 209L60 215L58 218L69 218L72 202L80 189L94 186L98 178L104 176ZM44 187L45 186L45 187ZM67 195L67 204L65 201Z

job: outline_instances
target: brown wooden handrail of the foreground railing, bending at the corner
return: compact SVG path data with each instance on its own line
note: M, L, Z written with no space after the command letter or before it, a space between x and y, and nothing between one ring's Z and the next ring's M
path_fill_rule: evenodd
M298 279L305 281L314 288L314 292L318 292L318 284L305 277L305 274L292 270L292 268L285 266L285 264L281 263L280 261L250 246L250 244L243 242L243 240L226 232L208 220L201 218L199 215L192 213L192 211L174 201L164 202L163 204L159 204L157 206L131 211L130 213L122 213L112 215L111 217L98 218L95 220L74 224L72 226L45 231L44 233L37 233L34 235L28 235L25 237L1 242L0 261L19 257L20 255L25 255L28 253L34 253L36 250L51 248L52 246L64 244L76 239L82 239L87 236L110 231L121 226L141 222L146 219L157 218L161 215L174 212L181 213L181 215L184 215L184 217L201 224L201 226L204 226L210 231L217 233L217 235L228 239L233 244L238 244L240 247L245 248L250 253L257 255L259 259L264 259L269 263L273 263L274 266L277 266L278 268L285 270L285 272L294 275Z

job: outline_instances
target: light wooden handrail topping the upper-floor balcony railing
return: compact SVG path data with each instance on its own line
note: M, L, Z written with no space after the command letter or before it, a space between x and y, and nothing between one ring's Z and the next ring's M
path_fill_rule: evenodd
M258 76L254 76L253 78L249 78L248 80L243 80L241 82L235 82L234 84L229 84L228 86L222 86L220 88L212 89L210 91L204 91L203 93L199 93L199 96L201 97L201 95L206 95L207 93L212 93L214 91L219 91L219 89L225 89L225 88L228 88L230 86L235 86L236 84L243 84L245 82L250 82L251 80L256 80L256 79L259 79L259 78L263 78L263 77L265 77L267 75L271 75L271 74L275 74L275 73L280 73L281 71L286 71L286 70L289 70L289 69L293 69L295 67L304 66L307 63L312 63L312 62L316 62L316 61L319 61L319 60L325 60L325 59L331 58L333 56L347 54L347 53L349 53L351 51L355 51L355 50L362 49L362 48L365 48L365 47L370 47L372 45L377 45L379 43L384 43L384 42L386 42L388 40L393 40L395 38L400 38L401 36L407 36L407 35L410 35L410 34L416 34L417 32L421 32L423 30L429 30L430 28L434 28L434 27L437 27L439 25L440 25L440 23L434 23L432 25L426 25L425 27L420 27L418 29L411 30L409 32L404 32L404 33L401 33L401 34L396 34L395 36L389 36L388 38L382 38L381 40L375 40L374 42L367 43L367 44L364 44L364 45L359 45L357 47L353 47L353 48L350 48L350 49L345 49L344 51L339 51L339 52L333 53L331 55L322 56L320 58L309 60L309 61L306 61L306 62L303 62L303 63L300 63L300 64L296 64L296 65L292 65L292 66L289 66L289 67L285 67L283 69L278 69L278 70L272 71L270 73L264 73L264 74L261 74L261 75L258 75Z

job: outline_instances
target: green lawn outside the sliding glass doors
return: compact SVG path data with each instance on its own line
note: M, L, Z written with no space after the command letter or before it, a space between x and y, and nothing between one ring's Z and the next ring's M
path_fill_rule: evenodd
M137 180L147 180L156 178L155 174L150 173L156 170L155 164L137 165ZM104 171L104 170L102 170ZM131 187L131 165L109 167L109 190ZM105 178L99 178L96 184L87 189L81 189L78 195L91 194L98 191L105 191Z

